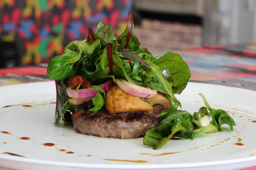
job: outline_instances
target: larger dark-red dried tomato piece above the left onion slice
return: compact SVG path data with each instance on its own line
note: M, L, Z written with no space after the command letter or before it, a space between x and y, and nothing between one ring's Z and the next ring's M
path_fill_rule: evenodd
M81 85L82 88L90 88L90 86L93 85L92 81L87 80L84 77L78 75L76 75L75 77L70 77L70 79L67 82L72 89L75 89L78 85Z

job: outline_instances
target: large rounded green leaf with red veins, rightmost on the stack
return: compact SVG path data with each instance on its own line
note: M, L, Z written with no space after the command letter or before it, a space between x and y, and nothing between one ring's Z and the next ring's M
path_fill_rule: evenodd
M173 78L172 90L174 94L180 94L190 78L189 66L179 54L168 52L157 61L162 69L166 69Z

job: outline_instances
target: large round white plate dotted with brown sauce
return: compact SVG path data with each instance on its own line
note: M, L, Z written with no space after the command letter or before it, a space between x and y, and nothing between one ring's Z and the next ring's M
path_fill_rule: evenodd
M0 167L18 170L237 170L256 165L256 123L252 122L256 120L256 91L190 82L183 93L177 95L183 110L193 113L203 106L198 93L206 96L212 108L230 113L237 124L234 130L226 128L224 132L204 134L194 140L172 140L159 150L153 150L143 145L143 138L99 138L75 133L73 127L63 123L55 127L55 103L51 103L55 102L54 82L0 87L0 153L6 153L0 154ZM13 106L2 108L6 105ZM238 142L244 145L236 145ZM55 145L49 147L44 143ZM162 156L157 156L160 154Z

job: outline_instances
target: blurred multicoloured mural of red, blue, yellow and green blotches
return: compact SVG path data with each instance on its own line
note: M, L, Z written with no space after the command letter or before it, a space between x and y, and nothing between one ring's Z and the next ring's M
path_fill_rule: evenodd
M23 66L47 63L99 21L119 36L131 6L132 0L0 0L0 40L17 44Z

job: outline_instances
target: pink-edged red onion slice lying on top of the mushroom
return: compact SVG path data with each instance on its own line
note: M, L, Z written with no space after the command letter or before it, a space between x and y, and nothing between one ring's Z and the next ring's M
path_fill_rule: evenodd
M157 94L157 91L150 88L144 88L139 85L134 85L130 82L125 81L124 79L116 79L116 85L132 96L141 97L141 98L151 98Z

